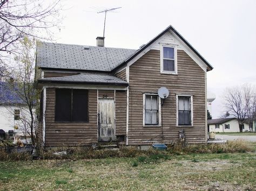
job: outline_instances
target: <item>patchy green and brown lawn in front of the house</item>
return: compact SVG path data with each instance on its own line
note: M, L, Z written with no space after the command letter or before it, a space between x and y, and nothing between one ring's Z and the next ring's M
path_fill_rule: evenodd
M0 162L1 190L255 190L256 153Z

